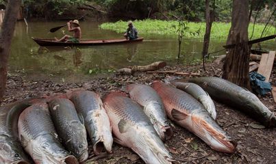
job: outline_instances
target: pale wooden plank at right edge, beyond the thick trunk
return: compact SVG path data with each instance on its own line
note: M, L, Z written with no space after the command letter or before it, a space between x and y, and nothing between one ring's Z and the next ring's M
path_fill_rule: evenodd
M271 77L271 70L273 68L274 58L275 51L269 51L269 53L262 54L258 73L266 77L266 82L269 80L269 77Z

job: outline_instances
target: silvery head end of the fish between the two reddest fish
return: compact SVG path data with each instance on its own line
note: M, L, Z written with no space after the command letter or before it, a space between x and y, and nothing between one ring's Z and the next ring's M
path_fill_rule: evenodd
M166 139L170 139L173 136L173 130L166 120L166 115L164 114L164 106L161 104L161 102L149 102L144 107L144 111L149 117L149 120L151 120L151 123L153 123L155 131L157 131L162 140L165 141Z

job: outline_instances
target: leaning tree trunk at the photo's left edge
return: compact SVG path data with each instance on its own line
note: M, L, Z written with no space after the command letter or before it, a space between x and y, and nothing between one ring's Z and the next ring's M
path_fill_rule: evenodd
M10 0L5 10L2 28L0 32L0 102L5 94L5 83L7 81L8 58L10 55L10 45L16 18L21 5L21 0Z

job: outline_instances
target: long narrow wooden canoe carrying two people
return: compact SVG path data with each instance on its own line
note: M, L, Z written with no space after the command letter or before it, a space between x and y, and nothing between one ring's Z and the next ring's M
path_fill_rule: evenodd
M34 42L40 46L96 46L105 44L126 44L131 42L142 42L144 38L137 38L135 40L124 39L112 39L112 40L81 40L79 43L73 42L58 42L54 39L42 39L42 38L32 38Z

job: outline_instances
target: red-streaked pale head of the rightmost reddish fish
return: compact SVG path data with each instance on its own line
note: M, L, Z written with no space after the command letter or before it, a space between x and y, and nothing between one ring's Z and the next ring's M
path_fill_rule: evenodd
M192 116L192 131L205 141L212 149L218 152L234 153L236 151L237 142L231 139L221 127L212 120L211 116Z

